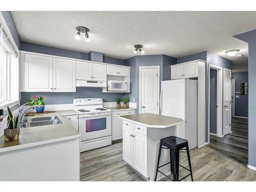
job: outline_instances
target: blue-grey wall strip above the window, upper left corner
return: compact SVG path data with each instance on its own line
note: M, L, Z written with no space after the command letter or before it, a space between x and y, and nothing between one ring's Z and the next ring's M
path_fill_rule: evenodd
M18 35L18 31L16 29L16 26L15 26L15 23L14 23L14 20L12 18L12 14L10 11L1 11L1 13L3 14L3 17L5 19L5 22L12 34L12 37L15 41L15 44L16 46L18 47L18 49L20 48L20 44L21 44L21 40L19 38L19 35Z

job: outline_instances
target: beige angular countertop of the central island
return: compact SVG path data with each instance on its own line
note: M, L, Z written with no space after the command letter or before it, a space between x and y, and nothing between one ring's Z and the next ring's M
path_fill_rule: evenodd
M185 123L185 121L180 118L156 115L152 113L123 115L119 116L119 118L151 128L166 128Z

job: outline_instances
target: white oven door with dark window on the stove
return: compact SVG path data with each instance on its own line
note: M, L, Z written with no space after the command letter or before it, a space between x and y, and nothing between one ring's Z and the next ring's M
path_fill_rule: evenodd
M111 135L111 114L79 115L81 141Z

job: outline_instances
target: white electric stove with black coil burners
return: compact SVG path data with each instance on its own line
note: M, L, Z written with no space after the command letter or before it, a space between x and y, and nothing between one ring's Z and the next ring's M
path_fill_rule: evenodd
M79 113L80 152L111 145L111 110L103 108L103 99L74 99L73 109Z

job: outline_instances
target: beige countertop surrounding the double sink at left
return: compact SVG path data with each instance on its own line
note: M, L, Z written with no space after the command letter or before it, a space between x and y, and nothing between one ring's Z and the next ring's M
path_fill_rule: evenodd
M62 115L78 114L74 110L57 111L54 113L26 116L25 118L57 116L62 123L54 125L34 126L20 129L18 140L4 141L4 134L0 137L0 153L18 150L31 146L44 145L59 141L76 139L80 133Z

